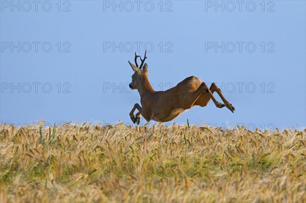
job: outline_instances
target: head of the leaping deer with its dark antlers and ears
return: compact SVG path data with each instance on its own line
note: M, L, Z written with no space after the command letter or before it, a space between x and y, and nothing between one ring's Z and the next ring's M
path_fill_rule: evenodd
M138 57L140 57L140 61L141 61L140 67L138 67L138 63L137 63ZM129 64L134 71L134 74L132 75L132 82L129 85L132 90L135 90L135 89L139 90L139 85L143 84L144 81L147 79L148 65L146 63L144 64L145 59L147 59L146 51L144 53L143 60L141 59L141 56L136 54L136 51L135 51L135 65L129 61Z

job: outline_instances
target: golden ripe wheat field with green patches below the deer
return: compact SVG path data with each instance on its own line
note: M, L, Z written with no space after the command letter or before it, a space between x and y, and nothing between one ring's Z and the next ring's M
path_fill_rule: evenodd
M306 202L305 129L2 124L0 144L1 202Z

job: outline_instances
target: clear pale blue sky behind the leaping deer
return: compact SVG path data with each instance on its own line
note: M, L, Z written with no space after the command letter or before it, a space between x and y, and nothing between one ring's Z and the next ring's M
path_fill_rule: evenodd
M131 124L127 61L147 49L155 90L195 75L236 108L172 122L306 126L305 1L1 1L0 23L2 123Z

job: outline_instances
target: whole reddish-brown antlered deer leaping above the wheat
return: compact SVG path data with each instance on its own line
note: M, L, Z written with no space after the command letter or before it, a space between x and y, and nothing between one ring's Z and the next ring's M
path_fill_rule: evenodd
M138 57L140 57L141 61L140 67L137 64ZM206 106L211 99L218 108L226 106L234 113L234 106L224 98L221 90L215 83L212 83L210 88L208 88L205 82L201 82L195 76L187 77L167 91L154 91L148 80L148 65L144 64L145 59L147 59L146 51L143 60L135 52L135 65L129 61L130 66L134 70L132 82L129 86L132 90L138 90L142 105L141 107L136 103L130 112L130 117L134 124L137 123L138 125L140 123L140 114L147 122L150 120L168 122L195 105ZM213 96L214 92L218 93L224 104L215 99ZM134 116L136 108L138 112Z

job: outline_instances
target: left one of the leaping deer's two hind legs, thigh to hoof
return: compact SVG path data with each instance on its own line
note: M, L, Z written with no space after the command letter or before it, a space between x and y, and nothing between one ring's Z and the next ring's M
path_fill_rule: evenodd
M210 101L210 99L213 100L214 104L218 108L222 108L225 106L224 104L221 104L220 102L216 100L213 93L208 88L207 84L205 82L202 82L200 86L198 87L198 89L195 92L193 92L193 95L188 96L187 104L188 106L191 104L189 108L194 105L206 106L207 103Z

